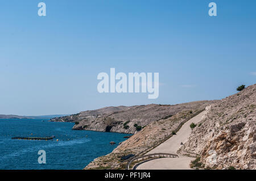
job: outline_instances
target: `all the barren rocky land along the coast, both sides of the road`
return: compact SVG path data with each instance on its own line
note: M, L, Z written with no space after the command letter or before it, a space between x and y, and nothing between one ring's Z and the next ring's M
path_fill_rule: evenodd
M106 107L51 121L75 123L73 129L131 133L112 153L98 157L84 169L125 169L121 158L143 155L160 145L200 112L179 154L197 157L197 169L256 169L256 85L222 100L176 105L150 104ZM193 166L193 165L192 165Z

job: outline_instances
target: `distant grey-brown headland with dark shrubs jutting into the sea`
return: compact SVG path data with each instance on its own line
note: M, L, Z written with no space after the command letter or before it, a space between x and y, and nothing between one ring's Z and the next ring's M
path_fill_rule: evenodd
M197 101L176 105L150 104L143 106L105 107L99 110L84 111L76 115L57 117L51 121L76 123L73 129L102 132L136 133L146 125L167 119L184 110L200 110L210 101Z

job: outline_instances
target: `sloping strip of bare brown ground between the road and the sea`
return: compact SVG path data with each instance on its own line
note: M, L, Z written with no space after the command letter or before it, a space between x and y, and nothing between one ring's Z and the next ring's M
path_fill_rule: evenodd
M171 136L175 136L175 132L177 132L185 121L205 110L205 107L213 102L214 101L183 104L183 110L175 113L173 116L151 121L151 123L146 125L141 131L131 136L128 140L123 141L112 153L94 159L85 169L109 169L121 163L120 158L125 155L142 155L147 153ZM172 107L176 108L175 106ZM115 169L124 168L125 165L122 164L115 167Z

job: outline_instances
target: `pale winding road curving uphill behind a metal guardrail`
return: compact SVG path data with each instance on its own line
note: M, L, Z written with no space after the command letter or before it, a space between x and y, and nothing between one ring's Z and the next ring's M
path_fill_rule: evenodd
M151 153L172 153L177 154L177 150L180 148L180 143L187 142L189 134L191 133L191 128L189 125L191 123L199 123L201 118L203 117L205 111L201 112L199 115L193 117L192 119L188 120L176 133L176 135L172 136L156 148L149 151L147 154ZM189 167L189 163L195 158L184 157L179 155L179 158L160 158L154 159L152 161L148 161L142 163L137 167L137 170L154 170L154 169L161 169L161 170L177 170L177 169L191 169Z

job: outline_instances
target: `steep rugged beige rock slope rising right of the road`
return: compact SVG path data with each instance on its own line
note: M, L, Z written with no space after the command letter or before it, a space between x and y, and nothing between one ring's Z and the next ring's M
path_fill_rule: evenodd
M256 169L256 85L219 100L180 149L209 169Z

